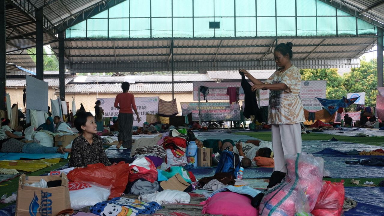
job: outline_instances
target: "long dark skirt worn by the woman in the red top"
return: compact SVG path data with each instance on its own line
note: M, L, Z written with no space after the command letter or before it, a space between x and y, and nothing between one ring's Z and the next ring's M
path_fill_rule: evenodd
M132 113L119 113L119 136L118 140L122 141L122 147L132 148L132 126L133 114Z

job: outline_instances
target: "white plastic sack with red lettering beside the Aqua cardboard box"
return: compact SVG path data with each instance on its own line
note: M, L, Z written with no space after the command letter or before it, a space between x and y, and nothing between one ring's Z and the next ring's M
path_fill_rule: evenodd
M71 199L71 208L79 210L86 206L106 201L111 194L111 188L96 186L85 182L68 183Z

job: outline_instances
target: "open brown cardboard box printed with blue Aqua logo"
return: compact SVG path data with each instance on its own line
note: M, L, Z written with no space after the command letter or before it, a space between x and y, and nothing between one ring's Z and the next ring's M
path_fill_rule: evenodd
M61 180L61 186L36 188L25 183ZM59 182L60 183L60 182ZM71 208L68 179L65 173L60 176L26 176L19 178L15 216L55 216L60 211Z

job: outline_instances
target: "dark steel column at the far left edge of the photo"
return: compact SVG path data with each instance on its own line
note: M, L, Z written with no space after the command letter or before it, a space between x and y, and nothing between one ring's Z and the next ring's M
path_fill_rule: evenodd
M6 43L5 43L5 1L0 3L0 110L5 110L5 94L7 93L5 87L7 78L6 66Z

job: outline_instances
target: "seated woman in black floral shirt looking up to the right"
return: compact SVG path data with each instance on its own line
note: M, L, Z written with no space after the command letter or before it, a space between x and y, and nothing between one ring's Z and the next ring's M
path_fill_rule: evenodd
M95 163L111 165L103 149L101 137L96 135L97 125L93 115L89 112L80 112L76 116L74 125L80 136L73 140L69 166L84 167Z

